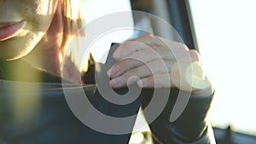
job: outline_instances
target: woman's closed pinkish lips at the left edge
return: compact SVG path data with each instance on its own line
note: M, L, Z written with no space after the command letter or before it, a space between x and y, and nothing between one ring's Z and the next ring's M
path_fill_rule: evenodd
M20 22L10 23L6 26L1 26L0 27L0 41L5 41L11 37L15 37L20 32L20 29L24 25L25 25L25 21L22 20Z

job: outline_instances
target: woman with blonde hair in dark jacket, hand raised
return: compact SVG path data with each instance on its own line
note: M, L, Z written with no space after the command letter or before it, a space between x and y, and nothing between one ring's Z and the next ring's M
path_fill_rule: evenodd
M84 35L83 31L79 31L84 26L82 9L76 8L82 6L82 2L0 1L0 141L61 144L129 141L130 135L103 134L81 124L65 105L61 92L59 94L57 90L53 90L56 95L62 96L49 94L49 89L61 87L63 72L62 77L67 80L65 83L79 84L81 81L81 78L73 77L80 73L74 53L65 52L73 37ZM174 56L170 53L170 48ZM70 56L66 58L65 55ZM126 59L127 57L130 59ZM191 94L191 97L201 96L200 99L191 99L181 117L173 123L168 120L175 98L167 101L160 117L149 124L155 142L210 142L205 118L212 101L212 84L201 76L196 78L198 84L179 80L187 77L189 66L201 70L196 51L189 50L181 43L144 35L121 44L113 53L113 59L117 62L107 72L111 78L109 85L113 89L126 87L128 79L137 75L137 78L131 79L130 84L137 84L142 88L179 89ZM163 63L166 68L160 68ZM91 70L94 73L93 63L88 64L88 72L84 72L84 84L93 83L94 77L90 77ZM177 64L181 64L180 67ZM146 65L154 70L153 73L148 72ZM171 79L166 81L166 77ZM171 95L175 97L179 90ZM144 99L143 101L147 101L147 98ZM99 103L93 102L96 105ZM191 113L194 114L192 118Z

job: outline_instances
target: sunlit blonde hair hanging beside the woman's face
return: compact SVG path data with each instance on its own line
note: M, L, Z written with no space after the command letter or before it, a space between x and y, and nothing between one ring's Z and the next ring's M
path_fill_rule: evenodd
M62 48L65 51L65 55L79 68L79 71L87 71L88 64L85 62L81 65L83 58L81 43L84 39L84 0L61 0L63 19L63 40ZM67 38L71 36L73 38L72 43L67 41ZM86 60L85 60L86 61Z

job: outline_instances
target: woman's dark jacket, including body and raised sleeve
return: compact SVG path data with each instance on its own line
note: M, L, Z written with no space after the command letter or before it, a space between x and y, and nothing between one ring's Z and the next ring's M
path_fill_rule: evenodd
M7 63L1 61L0 64L0 78L2 79L0 81L0 143L1 141L7 144L128 143L131 134L103 134L81 123L67 105L61 78L39 71L23 62L17 64L17 61ZM20 66L19 72L38 73L41 76L40 80L37 81L32 77L10 77L9 67L17 65ZM90 72L93 71L94 69L90 69ZM73 90L81 89L77 85L69 86L73 87ZM136 113L140 105L146 107L150 101L150 94L152 94L152 89L144 89L143 99L138 99L127 107L117 107L106 102L101 95L97 94L95 84L83 89L86 94L89 94L87 96L90 102L99 111L117 117ZM119 89L119 92L125 93L125 89ZM171 90L165 109L153 123L149 124L154 142L166 144L211 143L209 137L211 127L206 121L206 116L213 94L205 97L191 96L183 114L171 123L169 117L175 105L177 93L177 89ZM20 102L24 102L22 105L24 107L19 106ZM37 105L34 105L33 102ZM25 110L26 112L24 112ZM145 116L148 118L147 114Z

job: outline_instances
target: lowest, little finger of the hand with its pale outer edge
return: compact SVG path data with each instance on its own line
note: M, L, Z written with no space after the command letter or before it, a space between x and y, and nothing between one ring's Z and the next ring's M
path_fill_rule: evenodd
M201 66L194 62L192 64L172 64L172 71L157 73L147 78L137 80L141 88L170 88L176 87L183 91L207 89L211 83L203 74Z

